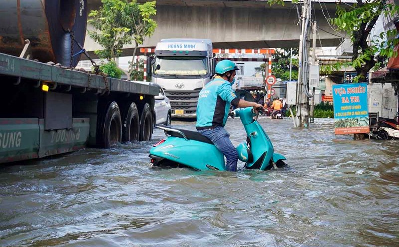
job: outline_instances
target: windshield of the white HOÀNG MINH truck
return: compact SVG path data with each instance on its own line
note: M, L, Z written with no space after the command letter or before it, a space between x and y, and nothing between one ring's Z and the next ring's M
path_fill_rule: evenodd
M205 57L157 57L155 75L204 76L208 74Z

